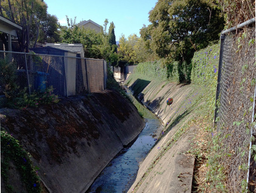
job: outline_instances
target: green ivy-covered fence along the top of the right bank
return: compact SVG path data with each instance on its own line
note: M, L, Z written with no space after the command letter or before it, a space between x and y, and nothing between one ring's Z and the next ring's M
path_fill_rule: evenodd
M171 82L192 82L200 85L216 83L219 64L219 44L208 46L194 53L190 64L160 59L154 62L142 62L134 73L149 79Z

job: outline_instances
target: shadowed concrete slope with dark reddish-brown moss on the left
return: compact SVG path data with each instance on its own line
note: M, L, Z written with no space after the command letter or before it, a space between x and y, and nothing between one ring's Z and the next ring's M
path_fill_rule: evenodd
M51 193L84 193L144 126L134 106L114 91L40 108L1 109L1 127L32 155Z

